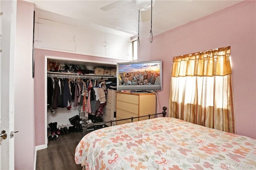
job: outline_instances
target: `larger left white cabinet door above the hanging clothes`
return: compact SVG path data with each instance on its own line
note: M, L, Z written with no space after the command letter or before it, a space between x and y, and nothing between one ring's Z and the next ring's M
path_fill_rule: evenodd
M39 18L38 47L76 51L76 26Z

